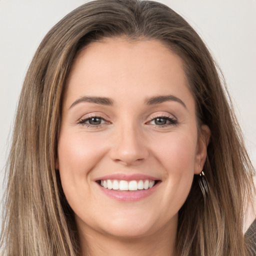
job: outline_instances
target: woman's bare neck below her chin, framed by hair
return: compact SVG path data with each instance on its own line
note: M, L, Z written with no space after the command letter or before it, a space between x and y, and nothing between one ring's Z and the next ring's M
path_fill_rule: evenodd
M83 232L79 230L81 256L174 256L176 225L166 226L135 238L115 237L87 227Z

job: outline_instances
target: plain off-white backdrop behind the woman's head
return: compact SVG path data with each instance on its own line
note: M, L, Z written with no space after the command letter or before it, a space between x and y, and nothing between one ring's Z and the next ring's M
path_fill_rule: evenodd
M15 109L29 62L46 32L85 2L0 0L0 196ZM196 29L220 65L256 167L256 0L161 2Z

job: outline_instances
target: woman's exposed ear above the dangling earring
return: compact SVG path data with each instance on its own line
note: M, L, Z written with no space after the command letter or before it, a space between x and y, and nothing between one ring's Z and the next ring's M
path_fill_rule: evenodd
M210 140L210 129L207 125L201 125L200 134L197 141L196 155L194 161L194 174L199 174L206 160L207 146Z

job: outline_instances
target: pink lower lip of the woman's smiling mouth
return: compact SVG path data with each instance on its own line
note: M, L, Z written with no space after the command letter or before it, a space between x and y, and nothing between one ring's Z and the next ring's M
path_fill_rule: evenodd
M119 201L138 201L145 197L150 196L158 187L160 181L158 181L154 186L148 189L134 190L134 191L120 191L114 189L107 189L99 185L101 191L108 197L119 200Z

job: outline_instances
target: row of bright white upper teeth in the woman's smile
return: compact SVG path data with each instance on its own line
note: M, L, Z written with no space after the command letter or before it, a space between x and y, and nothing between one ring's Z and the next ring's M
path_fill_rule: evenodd
M142 190L142 189L148 189L151 188L155 183L155 180L111 180L111 179L105 179L100 180L100 185L107 189L114 189L114 190Z

